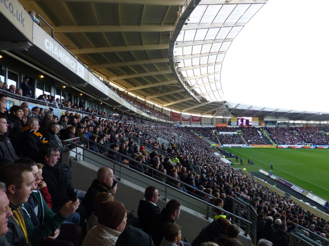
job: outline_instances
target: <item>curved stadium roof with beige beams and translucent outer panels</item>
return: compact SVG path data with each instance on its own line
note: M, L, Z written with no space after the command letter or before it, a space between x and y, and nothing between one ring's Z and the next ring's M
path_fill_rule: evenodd
M267 0L21 0L89 69L183 113L328 120L320 112L222 101L234 37ZM177 18L179 16L179 18ZM177 71L174 69L176 68Z

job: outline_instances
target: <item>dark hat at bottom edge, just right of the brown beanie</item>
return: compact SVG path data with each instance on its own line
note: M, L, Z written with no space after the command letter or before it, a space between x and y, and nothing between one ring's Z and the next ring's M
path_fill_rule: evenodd
M115 246L154 246L152 237L139 228L126 226Z

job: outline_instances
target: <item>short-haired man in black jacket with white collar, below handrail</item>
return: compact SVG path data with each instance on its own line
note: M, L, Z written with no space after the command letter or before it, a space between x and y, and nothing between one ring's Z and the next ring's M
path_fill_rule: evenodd
M137 215L139 218L140 228L148 233L149 226L157 214L161 213L160 208L157 206L159 200L158 188L149 186L145 189L144 199L139 201Z

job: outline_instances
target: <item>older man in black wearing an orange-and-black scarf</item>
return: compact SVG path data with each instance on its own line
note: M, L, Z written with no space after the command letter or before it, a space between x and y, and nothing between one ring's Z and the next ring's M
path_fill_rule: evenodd
M37 160L39 158L40 148L43 144L48 142L39 130L39 122L38 119L29 118L26 121L24 132L20 139L20 146L22 155L24 157L29 157L33 160Z

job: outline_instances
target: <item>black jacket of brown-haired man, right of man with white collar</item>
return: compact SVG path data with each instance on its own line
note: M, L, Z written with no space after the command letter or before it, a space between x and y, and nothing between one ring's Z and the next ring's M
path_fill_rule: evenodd
M151 235L155 246L160 245L165 236L163 229L168 223L175 223L175 220L168 214L166 208L163 208L161 213L153 219L150 225L149 234Z

